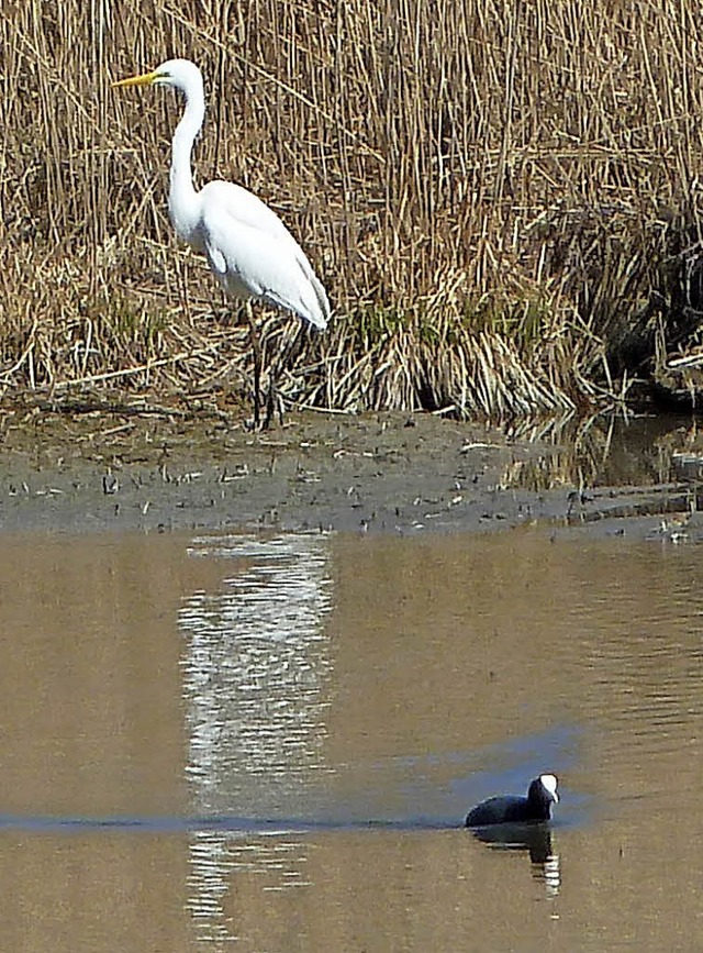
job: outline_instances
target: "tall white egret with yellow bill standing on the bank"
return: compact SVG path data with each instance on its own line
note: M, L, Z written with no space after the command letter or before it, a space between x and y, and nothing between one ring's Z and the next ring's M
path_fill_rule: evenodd
M169 59L153 73L112 85L170 86L186 97L171 145L168 214L178 236L207 256L225 292L292 311L324 331L330 320L325 289L276 212L233 182L215 180L200 191L193 186L191 153L205 117L202 74L196 64ZM254 420L258 424L260 351L254 319L247 311L254 350Z

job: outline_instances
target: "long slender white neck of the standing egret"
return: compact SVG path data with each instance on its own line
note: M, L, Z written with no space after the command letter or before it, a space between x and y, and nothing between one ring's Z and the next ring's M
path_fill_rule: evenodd
M176 126L171 144L168 214L178 235L191 244L197 244L198 193L193 187L190 156L204 118L205 97L202 87L189 89L186 111Z

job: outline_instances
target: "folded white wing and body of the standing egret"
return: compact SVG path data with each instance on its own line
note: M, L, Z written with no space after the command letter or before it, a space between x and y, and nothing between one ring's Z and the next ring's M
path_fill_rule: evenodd
M225 290L261 298L323 330L330 302L305 253L276 212L230 182L201 192L201 231L210 266Z

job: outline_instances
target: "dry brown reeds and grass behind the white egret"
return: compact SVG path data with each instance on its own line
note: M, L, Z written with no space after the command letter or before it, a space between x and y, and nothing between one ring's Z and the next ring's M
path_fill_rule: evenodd
M657 333L666 353L698 326L677 289L702 29L646 0L8 0L0 387L250 381L244 325L166 220L179 107L109 88L187 55L210 100L197 177L268 201L335 306L289 348L290 400L504 419L615 399ZM269 358L294 333L266 317Z

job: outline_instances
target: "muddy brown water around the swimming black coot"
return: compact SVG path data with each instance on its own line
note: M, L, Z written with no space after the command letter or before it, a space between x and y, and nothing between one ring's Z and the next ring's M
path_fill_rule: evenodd
M703 548L5 534L0 950L695 950ZM471 805L554 771L548 838Z

